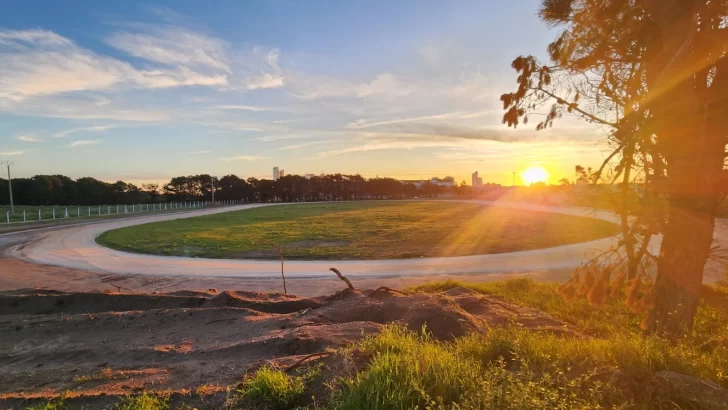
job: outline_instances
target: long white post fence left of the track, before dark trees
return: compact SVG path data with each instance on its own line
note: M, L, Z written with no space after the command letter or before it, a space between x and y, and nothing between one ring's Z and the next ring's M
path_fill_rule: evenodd
M241 200L215 201L215 205L239 205ZM56 219L68 218L90 218L94 216L124 215L147 212L164 212L182 209L199 209L210 206L209 201L189 202L165 202L159 204L133 204L133 205L94 205L94 206L66 206L66 207L44 207L28 211L21 206L16 206L15 213L5 212L5 223L31 223ZM35 208L35 207L33 207ZM2 214L0 214L2 215Z

